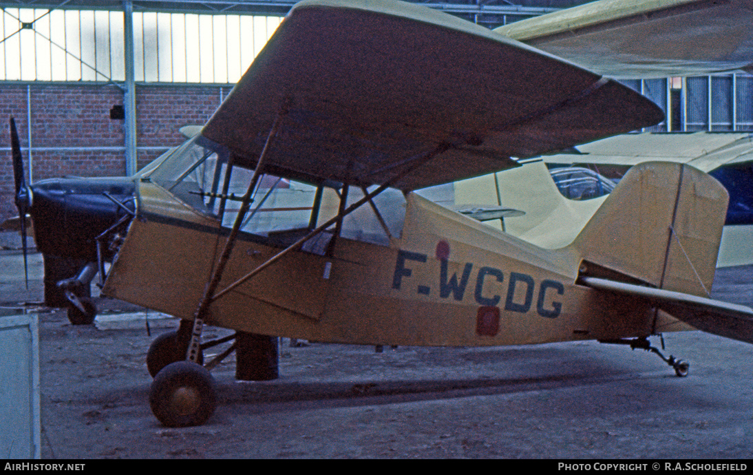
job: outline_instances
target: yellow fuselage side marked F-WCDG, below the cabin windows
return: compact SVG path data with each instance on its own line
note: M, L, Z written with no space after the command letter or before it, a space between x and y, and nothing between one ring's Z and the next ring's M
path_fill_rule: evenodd
M194 318L227 229L155 184L103 292ZM280 251L242 234L224 288ZM550 251L409 195L399 239L337 238L296 251L209 306L206 323L271 336L375 345L498 346L652 333L646 303L575 283L581 256Z

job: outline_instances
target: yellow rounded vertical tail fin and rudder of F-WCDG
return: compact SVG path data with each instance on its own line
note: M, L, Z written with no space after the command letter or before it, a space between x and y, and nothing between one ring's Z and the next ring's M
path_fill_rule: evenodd
M572 243L589 263L657 288L708 296L727 190L682 163L633 166Z

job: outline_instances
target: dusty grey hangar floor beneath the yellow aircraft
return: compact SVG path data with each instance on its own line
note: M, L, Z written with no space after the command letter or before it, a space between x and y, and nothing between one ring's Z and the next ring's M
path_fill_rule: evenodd
M691 362L687 378L648 352L599 343L378 353L284 340L279 379L236 382L230 362L213 372L212 419L164 428L144 361L175 322L105 301L113 312L74 327L65 312L23 305L42 300L41 257L30 257L29 291L20 269L20 252L0 251L2 306L39 313L43 458L753 454L753 346L697 331L665 336L666 353ZM714 296L750 305L751 277L751 267L721 271Z

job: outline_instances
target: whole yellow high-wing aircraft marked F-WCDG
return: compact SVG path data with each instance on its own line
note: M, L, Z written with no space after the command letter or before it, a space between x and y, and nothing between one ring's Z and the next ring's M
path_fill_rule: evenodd
M691 166L633 167L559 249L414 192L662 119L615 81L456 17L387 0L298 4L200 134L128 182L135 206L105 193L112 222L90 232L97 260L112 260L103 294L181 318L149 350L155 416L212 416L204 324L236 330L239 361L275 336L600 340L651 349L680 376L687 364L649 336L690 324L753 342L753 310L703 297L727 193ZM72 187L56 183L17 183L20 208L42 217L48 205L29 195ZM35 221L38 239L44 229Z

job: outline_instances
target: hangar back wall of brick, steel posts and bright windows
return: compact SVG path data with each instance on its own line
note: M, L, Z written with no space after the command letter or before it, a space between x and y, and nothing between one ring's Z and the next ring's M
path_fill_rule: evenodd
M582 0L414 3L494 28ZM204 123L294 5L290 0L0 2L3 117L16 118L28 181L130 175ZM753 76L625 80L666 111L651 132L753 129ZM553 84L552 87L556 87ZM10 152L6 126L0 148ZM16 213L0 163L0 218Z

